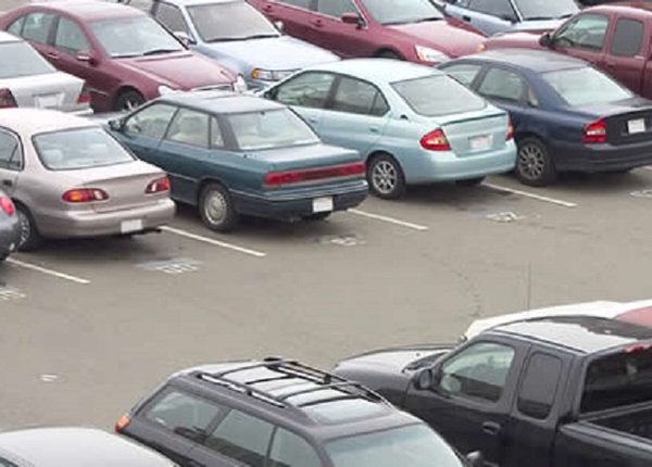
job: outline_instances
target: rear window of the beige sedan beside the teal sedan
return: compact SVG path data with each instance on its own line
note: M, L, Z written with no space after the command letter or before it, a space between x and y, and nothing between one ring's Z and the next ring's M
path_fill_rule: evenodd
M41 163L50 171L102 167L134 161L134 156L100 127L43 132L34 137Z

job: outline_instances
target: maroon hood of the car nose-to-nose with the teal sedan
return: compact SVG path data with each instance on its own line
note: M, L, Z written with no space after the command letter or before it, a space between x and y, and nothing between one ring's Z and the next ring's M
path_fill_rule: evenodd
M160 84L183 90L231 84L236 74L218 63L191 52L116 59L124 66L146 73Z

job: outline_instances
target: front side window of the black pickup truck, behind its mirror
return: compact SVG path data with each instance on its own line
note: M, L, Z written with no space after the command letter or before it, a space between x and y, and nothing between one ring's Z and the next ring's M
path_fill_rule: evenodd
M479 342L446 362L439 374L439 387L453 395L487 402L500 400L514 359L514 349L492 342Z

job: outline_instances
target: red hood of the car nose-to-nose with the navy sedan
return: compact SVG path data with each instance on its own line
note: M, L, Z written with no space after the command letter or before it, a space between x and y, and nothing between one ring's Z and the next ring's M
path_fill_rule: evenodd
M447 21L426 21L389 26L409 35L416 46L430 47L450 58L467 55L478 51L486 37L450 25Z

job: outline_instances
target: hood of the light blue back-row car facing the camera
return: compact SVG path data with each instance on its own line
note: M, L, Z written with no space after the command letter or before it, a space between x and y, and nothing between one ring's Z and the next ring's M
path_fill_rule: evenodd
M275 71L294 71L339 60L327 50L289 36L213 42L204 47L252 67Z

